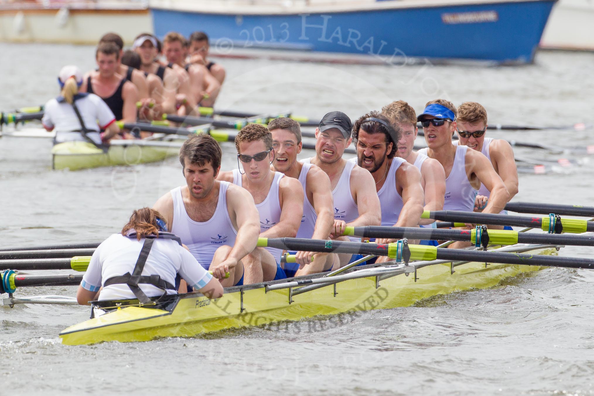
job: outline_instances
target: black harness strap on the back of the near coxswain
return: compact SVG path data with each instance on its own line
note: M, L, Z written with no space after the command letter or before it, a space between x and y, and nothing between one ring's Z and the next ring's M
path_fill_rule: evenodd
M136 233L131 232L128 235L129 238L136 238ZM144 264L146 264L147 258L149 257L150 249L153 246L153 242L155 239L173 239L175 242L179 243L179 246L182 245L181 239L179 236L169 232L159 232L159 236L156 235L147 235L144 239L143 248L140 249L140 255L138 255L138 260L136 261L136 265L134 266L134 270L132 274L125 273L121 276L111 277L105 281L103 286L111 286L112 284L127 284L134 296L143 304L148 304L151 302L150 298L147 297L146 294L140 289L138 286L139 284L151 284L158 289L163 290L163 296L166 296L167 289L169 290L176 290L175 286L170 284L168 281L161 279L160 275L142 275L144 270ZM162 296L162 297L163 297Z

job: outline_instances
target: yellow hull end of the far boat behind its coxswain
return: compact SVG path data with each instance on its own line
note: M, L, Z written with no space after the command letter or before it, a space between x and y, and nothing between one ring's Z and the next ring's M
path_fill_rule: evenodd
M141 145L134 140L121 142L126 144L112 144L107 153L89 142L58 143L52 147L52 169L80 170L135 165L162 161L179 153L179 148L170 145Z

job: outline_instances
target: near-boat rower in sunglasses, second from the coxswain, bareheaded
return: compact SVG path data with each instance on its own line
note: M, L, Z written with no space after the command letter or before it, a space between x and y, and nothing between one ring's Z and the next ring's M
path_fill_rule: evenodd
M243 187L252 195L260 214L261 237L295 237L301 224L303 192L298 180L270 170L274 151L266 126L255 123L244 126L235 137L235 147L241 168L221 172L218 179ZM286 278L280 267L282 252L282 249L257 248L248 258L261 263L265 281L282 279Z

